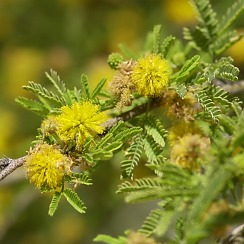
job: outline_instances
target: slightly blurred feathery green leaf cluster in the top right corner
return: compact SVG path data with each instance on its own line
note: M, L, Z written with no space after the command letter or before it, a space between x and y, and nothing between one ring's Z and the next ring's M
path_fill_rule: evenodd
M233 3L226 15L222 16L220 23L208 0L194 0L192 3L200 23L194 30L184 28L184 38L190 41L196 49L219 56L240 39L240 35L236 32L229 32L228 27L243 11L243 0Z

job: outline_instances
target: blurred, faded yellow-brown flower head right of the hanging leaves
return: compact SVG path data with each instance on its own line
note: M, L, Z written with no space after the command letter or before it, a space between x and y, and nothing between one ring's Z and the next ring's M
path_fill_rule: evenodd
M201 159L209 149L210 140L198 134L186 134L171 148L170 159L182 168L199 171Z

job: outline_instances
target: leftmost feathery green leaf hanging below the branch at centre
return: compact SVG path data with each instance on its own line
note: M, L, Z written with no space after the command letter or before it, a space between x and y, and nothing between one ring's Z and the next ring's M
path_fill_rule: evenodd
M133 176L133 170L136 165L138 165L141 154L143 150L143 144L142 139L136 138L130 147L128 148L125 157L126 159L121 162L121 168L122 168L122 177L132 177Z

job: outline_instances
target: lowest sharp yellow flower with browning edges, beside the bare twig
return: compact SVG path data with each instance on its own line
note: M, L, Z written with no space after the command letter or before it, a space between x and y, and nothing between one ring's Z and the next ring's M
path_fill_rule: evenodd
M63 176L70 171L72 161L56 147L48 144L37 145L26 156L24 166L27 178L37 188L56 190L61 186Z

